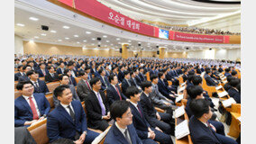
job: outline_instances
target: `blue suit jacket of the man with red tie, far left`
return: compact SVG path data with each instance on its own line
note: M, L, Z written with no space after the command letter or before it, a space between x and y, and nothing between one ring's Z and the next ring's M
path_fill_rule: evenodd
M44 94L33 94L41 116L50 112L50 103ZM32 121L32 109L29 103L20 96L14 100L14 126L20 127L25 121Z

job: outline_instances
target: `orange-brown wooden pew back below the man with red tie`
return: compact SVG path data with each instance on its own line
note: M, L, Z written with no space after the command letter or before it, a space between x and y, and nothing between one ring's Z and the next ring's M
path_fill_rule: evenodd
M46 129L46 121L47 120L45 119L27 128L30 131L32 138L38 144L49 143Z

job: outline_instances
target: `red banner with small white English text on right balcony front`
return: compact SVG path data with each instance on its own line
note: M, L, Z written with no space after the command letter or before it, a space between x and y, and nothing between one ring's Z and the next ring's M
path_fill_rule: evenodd
M224 43L224 36L192 34L175 31L174 40L204 43Z

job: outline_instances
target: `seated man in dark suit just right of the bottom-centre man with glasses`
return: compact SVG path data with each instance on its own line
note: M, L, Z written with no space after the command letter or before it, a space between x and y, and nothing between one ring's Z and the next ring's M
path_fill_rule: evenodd
M133 113L133 126L137 131L138 136L142 140L153 139L164 144L172 144L169 135L160 131L159 128L151 127L149 122L145 119L144 112L140 103L140 91L137 87L131 86L127 88L127 95L130 97L130 108ZM152 142L149 142L152 143Z

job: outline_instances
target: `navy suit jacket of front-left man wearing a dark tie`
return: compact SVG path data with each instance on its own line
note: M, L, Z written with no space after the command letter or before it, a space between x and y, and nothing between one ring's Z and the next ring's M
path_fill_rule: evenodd
M49 142L60 138L75 140L76 132L81 134L87 130L87 115L82 104L79 101L72 101L71 105L75 113L75 121L61 104L49 113L46 125Z

